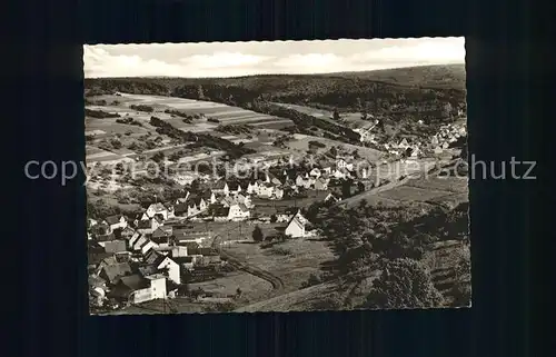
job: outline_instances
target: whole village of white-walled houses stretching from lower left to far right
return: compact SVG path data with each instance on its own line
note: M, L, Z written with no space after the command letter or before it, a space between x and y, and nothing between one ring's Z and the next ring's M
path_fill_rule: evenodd
M446 126L430 142L411 146L404 139L385 149L398 150L389 157L391 161L418 160L427 153L441 153L463 135L465 127ZM234 295L216 297L189 288L191 282L238 268L237 261L222 254L222 246L252 241L257 239L252 231L261 228L267 235L258 239L266 241L315 237L318 231L304 217L311 204L334 205L404 176L398 171L393 172L397 177L378 178L371 162L361 165L346 156L328 161L320 158L310 165L294 165L291 158L257 163L265 170L252 170L242 179L189 172L196 184L189 180L175 200L153 197L133 215L89 218L91 309L110 311L176 298L192 304L235 299L241 295L239 287ZM171 303L167 306L171 310Z

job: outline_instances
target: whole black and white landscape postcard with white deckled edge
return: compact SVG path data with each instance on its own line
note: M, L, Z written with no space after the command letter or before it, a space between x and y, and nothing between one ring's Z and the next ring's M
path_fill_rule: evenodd
M83 73L91 315L471 306L464 38L86 44Z

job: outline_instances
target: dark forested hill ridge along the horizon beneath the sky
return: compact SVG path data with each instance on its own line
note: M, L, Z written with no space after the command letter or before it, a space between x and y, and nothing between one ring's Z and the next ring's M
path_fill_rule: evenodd
M339 112L368 112L394 127L451 121L466 110L465 67L426 66L331 75L262 75L237 78L101 78L86 79L86 96L121 91L208 100L288 118L302 130L329 130L330 123L269 106L299 105ZM302 117L302 118L301 118ZM410 129L411 129L410 128ZM338 128L337 128L338 129ZM336 130L356 137L349 130ZM355 139L357 140L357 138Z

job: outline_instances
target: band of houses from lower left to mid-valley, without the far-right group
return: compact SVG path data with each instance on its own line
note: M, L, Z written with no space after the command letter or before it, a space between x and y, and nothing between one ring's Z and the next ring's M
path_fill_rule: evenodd
M203 247L215 238L210 222L275 221L285 224L286 236L310 236L310 222L297 207L272 207L272 201L314 190L324 201L336 202L341 195L334 182L360 176L354 170L349 159L341 158L334 169L285 169L281 176L266 173L239 182L219 179L195 191L183 190L173 201L150 204L132 217L89 218L91 303L166 298L183 282L185 274L222 264L216 251ZM254 205L255 199L268 205Z

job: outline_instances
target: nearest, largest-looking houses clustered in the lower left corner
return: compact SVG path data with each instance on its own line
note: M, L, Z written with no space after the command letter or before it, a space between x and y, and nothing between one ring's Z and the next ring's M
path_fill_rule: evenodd
M176 294L185 272L221 264L217 252L201 247L210 237L205 227L176 225L161 204L151 205L143 215L150 219L89 219L89 291L95 306L107 299L121 304L165 299Z

